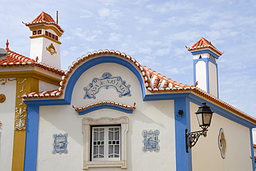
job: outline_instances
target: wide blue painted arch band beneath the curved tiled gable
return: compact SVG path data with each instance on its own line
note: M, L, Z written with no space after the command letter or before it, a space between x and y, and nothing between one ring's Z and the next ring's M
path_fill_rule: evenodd
M91 59L89 61L86 61L86 63L83 63L81 66L79 66L75 72L71 75L70 79L68 80L68 84L66 85L66 92L65 97L66 101L69 103L71 102L72 92L73 88L75 86L75 83L79 79L79 77L86 71L89 70L89 68L92 68L93 66L99 65L100 63L117 63L121 66L125 66L131 72L134 73L134 75L137 77L138 81L140 82L140 88L143 92L143 97L145 96L145 86L144 86L144 80L141 76L141 72L138 72L137 68L135 68L134 64L131 64L124 59L120 59L118 57L111 57L111 56L104 56L104 57L98 57L95 59Z

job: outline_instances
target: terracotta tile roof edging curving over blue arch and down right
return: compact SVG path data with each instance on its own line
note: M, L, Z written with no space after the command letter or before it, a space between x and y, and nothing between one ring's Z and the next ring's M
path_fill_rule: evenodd
M96 55L100 55L100 54L118 55L119 57L129 59L131 62L133 62L137 66L138 70L140 70L140 72L142 73L143 79L145 82L145 87L150 92L162 92L162 91L174 92L174 91L190 90L192 92L195 92L196 94L199 94L205 97L206 99L209 99L210 101L214 101L214 103L217 103L223 106L224 108L231 110L232 112L235 112L239 116L244 117L256 123L256 119L254 117L251 117L249 114L246 114L245 112L238 110L237 108L233 107L232 105L229 105L228 103L222 101L221 99L214 97L212 94L209 94L208 92L205 92L204 90L201 90L196 86L188 86L188 85L173 81L172 79L169 79L154 70L151 70L145 66L140 65L140 63L138 63L136 59L130 57L129 55L125 53L121 53L119 51L114 51L114 50L99 50L98 52L93 51L92 53L89 52L86 55L83 55L82 58L77 58L77 61L74 61L72 63L73 65L69 66L68 70L65 71L65 75L62 76L62 81L60 82L60 88L58 90L52 90L48 92L32 92L29 94L24 94L22 97L24 99L37 98L37 97L60 97L63 94L66 79L68 79L69 74L73 72L76 66L78 66L82 61L86 61L86 59L93 58Z

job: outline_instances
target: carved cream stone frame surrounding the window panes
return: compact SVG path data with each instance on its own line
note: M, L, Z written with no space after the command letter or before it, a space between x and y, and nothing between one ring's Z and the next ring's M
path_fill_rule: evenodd
M95 125L121 125L120 129L120 160L118 161L91 161L91 126ZM128 132L128 117L101 117L93 119L86 117L82 119L82 132L84 134L84 163L83 168L102 168L102 167L119 167L127 168L127 132Z

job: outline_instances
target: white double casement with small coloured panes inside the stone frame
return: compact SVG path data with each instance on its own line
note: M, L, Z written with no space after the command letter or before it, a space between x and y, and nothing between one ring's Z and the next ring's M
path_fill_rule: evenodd
M92 127L91 161L120 161L120 126Z

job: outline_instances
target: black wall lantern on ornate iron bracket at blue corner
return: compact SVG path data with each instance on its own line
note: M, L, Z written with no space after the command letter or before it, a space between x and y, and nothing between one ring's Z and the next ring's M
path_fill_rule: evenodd
M188 152L188 148L194 147L199 137L203 135L203 137L207 136L207 128L210 126L210 122L212 121L212 110L210 107L206 105L206 103L202 103L203 105L199 107L199 110L195 112L197 121L199 122L199 126L203 129L195 132L188 132L188 129L185 130L185 141L186 141L186 150Z

